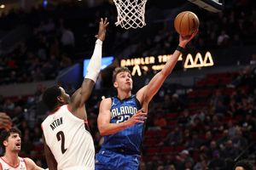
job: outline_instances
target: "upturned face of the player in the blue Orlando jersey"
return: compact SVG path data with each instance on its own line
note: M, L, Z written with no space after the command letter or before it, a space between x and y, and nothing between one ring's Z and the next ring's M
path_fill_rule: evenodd
M132 89L131 74L126 71L119 72L119 74L116 75L116 79L113 85L115 88L131 91Z

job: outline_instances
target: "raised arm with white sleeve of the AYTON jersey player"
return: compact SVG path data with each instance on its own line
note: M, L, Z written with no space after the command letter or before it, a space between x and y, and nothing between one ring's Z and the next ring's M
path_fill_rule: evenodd
M96 40L94 52L87 67L87 74L84 78L84 82L82 83L81 88L79 88L73 94L71 99L73 111L76 111L76 109L84 106L85 101L89 99L91 91L95 85L96 79L102 66L102 42L105 40L107 26L108 19L101 19L98 35L96 35L98 39Z

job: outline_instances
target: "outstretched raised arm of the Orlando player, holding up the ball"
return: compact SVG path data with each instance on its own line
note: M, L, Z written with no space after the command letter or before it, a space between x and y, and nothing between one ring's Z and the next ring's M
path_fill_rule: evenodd
M196 33L197 32L192 34L190 37L179 36L178 48L185 48L187 43L193 37L195 37ZM144 105L145 104L147 105L150 102L150 100L154 97L154 94L156 94L158 92L158 90L162 86L163 82L165 82L166 77L168 77L169 74L172 72L174 66L177 63L177 59L178 59L179 55L181 54L180 50L181 49L175 50L175 52L172 54L172 57L170 57L170 59L166 62L166 65L164 66L164 68L150 80L150 82L148 83L147 86L141 88L137 92L137 98L141 101L141 104L142 104L144 110L147 111L147 109L144 108Z

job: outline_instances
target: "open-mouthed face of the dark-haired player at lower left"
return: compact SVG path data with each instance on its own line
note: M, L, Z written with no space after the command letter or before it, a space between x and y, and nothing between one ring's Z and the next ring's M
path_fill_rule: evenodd
M9 138L4 140L6 150L19 152L21 149L21 139L19 133L11 133Z

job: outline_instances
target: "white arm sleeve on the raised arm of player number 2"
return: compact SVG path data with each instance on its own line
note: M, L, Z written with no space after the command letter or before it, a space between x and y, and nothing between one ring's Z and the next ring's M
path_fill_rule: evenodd
M87 74L85 78L90 78L93 82L96 82L99 72L102 67L102 41L96 40L96 45L90 58L89 65L87 66Z

